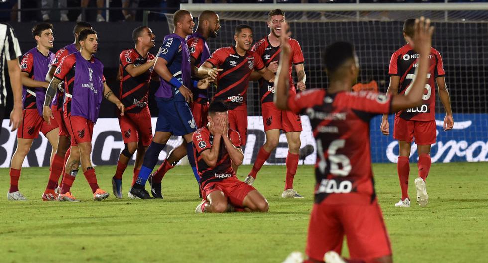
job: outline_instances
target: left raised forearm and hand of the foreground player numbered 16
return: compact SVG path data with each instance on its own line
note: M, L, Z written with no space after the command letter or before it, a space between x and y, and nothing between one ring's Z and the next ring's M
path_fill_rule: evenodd
M286 22L281 25L281 30L283 32L288 31L288 24ZM291 47L290 44L288 44L288 37L290 35L290 32L287 32L286 34L282 33L280 36L281 54L278 71L276 71L276 79L274 81L274 103L280 110L288 110L288 89L290 87L288 69L290 68L289 60L291 54Z

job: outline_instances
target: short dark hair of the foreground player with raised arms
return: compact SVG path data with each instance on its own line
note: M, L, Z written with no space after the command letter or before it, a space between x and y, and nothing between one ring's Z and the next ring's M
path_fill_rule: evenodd
M354 46L349 42L335 42L325 48L324 66L334 73L348 59L354 59Z

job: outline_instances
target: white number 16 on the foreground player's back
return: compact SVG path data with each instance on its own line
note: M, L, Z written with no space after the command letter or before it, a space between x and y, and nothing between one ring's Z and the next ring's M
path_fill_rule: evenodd
M329 157L329 163L331 165L329 172L335 176L348 176L349 172L351 172L351 162L349 161L349 158L344 154L336 154L337 150L343 148L345 143L346 140L343 139L334 140L331 142L329 149L327 150L327 156ZM317 152L320 158L320 172L325 173L327 161L325 160L321 139L317 139ZM342 168L339 168L339 164L341 164Z

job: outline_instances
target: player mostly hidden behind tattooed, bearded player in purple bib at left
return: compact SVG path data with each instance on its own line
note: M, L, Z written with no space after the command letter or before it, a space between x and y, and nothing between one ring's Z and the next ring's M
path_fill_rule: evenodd
M73 28L73 34L75 36L75 41L72 44L69 44L56 52L56 56L54 61L52 62L49 72L46 75L46 81L49 83L51 82L54 71L56 68L61 64L61 61L69 54L73 54L75 52L79 52L81 46L78 42L78 38L80 36L80 32L85 29L92 29L92 25L87 22L78 22L75 24ZM49 180L47 182L46 190L42 195L42 200L44 201L54 201L57 200L57 196L59 191L61 190L58 186L59 177L64 174L64 167L66 165L66 161L70 155L70 137L68 128L64 123L63 118L63 102L64 102L64 82L61 82L58 89L56 89L56 96L53 99L51 110L54 116L54 122L57 123L59 127L58 133L58 148L55 151L52 163L51 163L51 170L49 171ZM61 180L62 181L62 180Z

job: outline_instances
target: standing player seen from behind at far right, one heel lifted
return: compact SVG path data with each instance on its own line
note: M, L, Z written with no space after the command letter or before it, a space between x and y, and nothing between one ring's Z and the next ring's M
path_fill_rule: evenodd
M406 94L411 89L412 80L415 78L415 68L418 65L418 54L413 50L410 39L414 33L415 19L407 19L403 24L403 37L406 45L398 49L391 56L389 74L390 85L388 94ZM451 130L454 126L454 119L451 110L451 100L446 87L444 78L444 66L441 54L432 48L429 54L430 69L426 75L427 84L424 87L422 105L399 111L395 114L395 127L393 138L398 140L398 179L400 180L401 198L396 207L410 207L410 197L408 196L408 175L410 173L410 144L414 140L417 144L418 153L418 175L415 179L417 190L417 203L424 207L429 201L425 180L429 175L430 147L436 142L436 122L435 122L435 83L439 88L439 97L446 110L444 118L444 131ZM388 115L383 115L381 122L381 132L389 135ZM414 139L415 138L415 139Z

